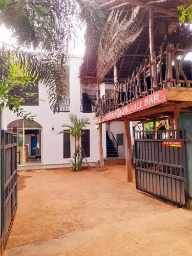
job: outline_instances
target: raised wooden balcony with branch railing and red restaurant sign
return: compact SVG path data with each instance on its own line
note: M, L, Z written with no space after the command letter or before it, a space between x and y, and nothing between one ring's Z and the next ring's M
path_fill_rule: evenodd
M154 52L153 58L150 55L144 59L132 75L116 82L113 89L99 97L96 116L101 119L98 121L120 120L127 115L133 120L137 116L138 120L145 120L146 115L158 118L161 116L158 112L170 115L176 107L190 111L187 108L192 101L191 61L185 60L190 51L168 44L165 51L160 49L159 55ZM147 112L151 107L153 111Z

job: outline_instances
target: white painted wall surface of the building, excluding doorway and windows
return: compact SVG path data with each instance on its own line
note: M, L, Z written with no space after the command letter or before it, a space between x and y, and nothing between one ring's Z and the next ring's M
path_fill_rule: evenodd
M70 83L70 111L76 113L78 117L86 116L90 118L91 124L86 129L90 129L90 158L88 161L99 160L98 150L98 130L94 123L95 113L81 113L80 112L80 84L79 84L79 67L82 58L74 57L70 59L69 69L69 83ZM45 86L39 84L39 105L38 106L24 106L27 112L35 114L34 118L42 126L42 152L41 160L42 164L61 164L69 163L69 159L63 159L63 135L58 134L62 129L62 124L69 123L69 112L62 112L53 114L50 110L50 105L46 93ZM10 111L4 111L3 113L3 127L7 128L7 125L19 119ZM54 130L52 130L54 126ZM102 125L102 142L103 142L103 155L106 157L106 138L105 138L105 124ZM74 152L74 140L71 138L71 156Z

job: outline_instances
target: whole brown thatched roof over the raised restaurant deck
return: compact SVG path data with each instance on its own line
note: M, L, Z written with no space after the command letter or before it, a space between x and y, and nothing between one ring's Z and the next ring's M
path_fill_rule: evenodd
M150 54L148 10L127 3L133 0L95 2L106 13L106 23L101 31L97 53L90 54L86 51L84 54L81 83L113 81L115 63L119 67L119 79L126 79ZM184 48L190 44L191 32L185 26L177 28L177 6L190 4L190 0L135 0L134 3L136 2L153 7L156 51L163 44L166 47L167 42L180 42ZM159 8L168 14L159 12Z

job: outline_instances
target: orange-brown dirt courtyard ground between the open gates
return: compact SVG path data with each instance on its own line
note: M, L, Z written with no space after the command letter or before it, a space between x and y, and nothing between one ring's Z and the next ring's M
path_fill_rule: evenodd
M192 211L105 172L19 173L18 209L5 255L192 255Z

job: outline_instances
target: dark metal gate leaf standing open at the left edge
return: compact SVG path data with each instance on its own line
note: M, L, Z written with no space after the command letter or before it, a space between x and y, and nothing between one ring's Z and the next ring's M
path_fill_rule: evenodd
M7 243L17 208L16 133L2 131L2 230L1 250Z

